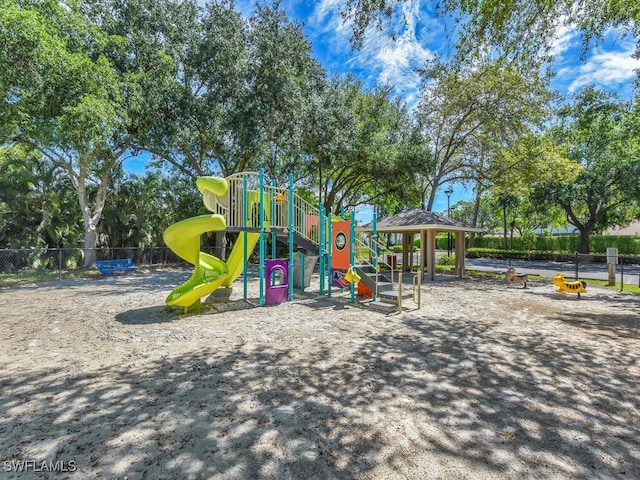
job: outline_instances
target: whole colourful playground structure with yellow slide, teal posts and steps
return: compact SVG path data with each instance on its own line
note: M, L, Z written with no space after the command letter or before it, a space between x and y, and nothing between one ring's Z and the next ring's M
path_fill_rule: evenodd
M356 287L365 283L375 301L379 292L387 288L381 281L385 277L379 274L383 262L378 261L379 252L386 249L381 250L375 232L368 247L369 252L375 250L369 264L374 273L370 273L367 267L355 265L354 222L345 219L344 210L339 217L327 215L322 205L316 207L298 196L293 176L289 177L288 188L277 187L274 182L267 184L263 171L242 172L226 178L201 177L196 185L211 214L182 220L164 232L167 246L194 265L189 279L169 294L167 305L184 307L187 311L217 288L230 287L246 271L249 256L256 246L259 247L261 306L293 299L294 271L299 272L298 284L304 290L308 283L304 276L313 270L305 265L306 254L311 254L314 262L319 261L320 295L326 291L330 297L334 288L342 291L348 288L351 302L355 303ZM201 236L214 231L238 233L226 261L200 250ZM271 240L271 259L267 258L268 238ZM288 245L288 259L276 259L277 241ZM393 267L391 276L393 278ZM247 299L247 276L243 277L244 298ZM393 282L387 283L393 286ZM402 294L400 309L401 301Z

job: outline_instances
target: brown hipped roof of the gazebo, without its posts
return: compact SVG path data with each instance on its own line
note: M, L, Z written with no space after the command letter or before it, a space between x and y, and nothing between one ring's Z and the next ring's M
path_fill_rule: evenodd
M357 230L371 231L373 224L368 223ZM406 212L397 213L390 217L384 217L378 220L376 225L378 232L419 232L421 230L438 230L438 231L463 231L463 232L481 232L481 228L470 227L462 222L445 217L438 213L429 212L419 208L407 210Z

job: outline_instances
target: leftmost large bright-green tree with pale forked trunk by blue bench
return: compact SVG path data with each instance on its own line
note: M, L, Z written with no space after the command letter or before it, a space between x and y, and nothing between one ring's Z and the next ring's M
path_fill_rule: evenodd
M172 70L160 48L96 27L110 11L97 5L2 0L0 8L2 140L38 149L68 176L84 222L85 266L95 263L111 170L147 128L156 106L150 92Z

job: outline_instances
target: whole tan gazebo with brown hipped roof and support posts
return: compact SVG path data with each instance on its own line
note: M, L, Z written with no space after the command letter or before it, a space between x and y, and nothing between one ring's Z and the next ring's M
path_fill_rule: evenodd
M372 232L373 223L357 227L357 231ZM409 253L413 252L412 238L420 235L420 271L427 267L426 281L436 279L436 233L453 235L453 251L456 257L454 275L464 276L465 234L481 232L481 228L470 227L449 217L419 208L391 215L377 221L376 232L402 234L402 266L409 270ZM425 265L426 264L426 265Z

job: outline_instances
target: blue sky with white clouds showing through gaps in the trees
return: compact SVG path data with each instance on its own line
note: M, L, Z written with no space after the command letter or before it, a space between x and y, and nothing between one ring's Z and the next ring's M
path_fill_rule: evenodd
M289 18L303 24L303 31L312 46L312 55L329 75L353 73L365 87L391 84L393 94L403 98L409 106L416 104L420 93L417 68L436 54L447 54L451 45L446 31L450 25L442 18L435 19L431 1L413 0L402 4L402 16L387 24L383 32L370 29L362 47L351 47L351 27L340 14L344 0L281 0ZM245 16L251 15L255 1L237 0L236 8ZM393 34L392 36L390 35ZM603 41L592 47L581 58L582 39L578 32L563 27L553 44L555 77L552 88L567 95L586 85L618 92L623 98L633 94L634 70L640 69L640 60L631 54L633 38L621 38L611 29ZM144 159L127 160L126 168L141 171ZM442 187L444 191L447 186ZM451 205L467 200L469 193L460 185L453 186ZM433 207L445 212L447 198L437 196ZM360 209L359 217L369 217L370 209Z

